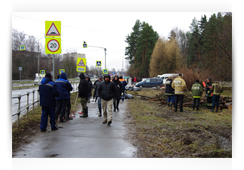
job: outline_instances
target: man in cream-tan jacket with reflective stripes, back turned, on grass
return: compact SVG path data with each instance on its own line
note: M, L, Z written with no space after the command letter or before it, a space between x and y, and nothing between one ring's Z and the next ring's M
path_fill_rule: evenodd
M184 91L186 90L186 82L182 79L182 74L174 79L172 83L172 88L175 89L175 112L177 111L178 101L180 101L180 112L184 112L183 110L183 97Z

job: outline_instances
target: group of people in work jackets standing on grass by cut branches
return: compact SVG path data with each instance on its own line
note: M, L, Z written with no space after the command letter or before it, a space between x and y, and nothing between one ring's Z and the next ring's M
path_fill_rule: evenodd
M216 112L219 108L219 98L220 94L223 92L222 85L218 81L212 83L211 78L207 78L207 83L199 83L199 80L196 80L195 84L192 85L191 91L193 95L193 110L199 110L200 98L203 93L203 87L206 88L206 97L207 97L207 108L214 112L216 107ZM165 95L168 96L167 104L168 109L173 109L177 112L178 102L180 102L180 112L183 110L183 98L186 92L186 82L182 78L182 74L179 74L177 78L173 80L173 77L169 77L166 81Z

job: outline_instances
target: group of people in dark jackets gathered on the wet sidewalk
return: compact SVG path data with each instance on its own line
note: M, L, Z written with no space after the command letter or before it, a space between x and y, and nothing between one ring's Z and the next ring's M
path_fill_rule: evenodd
M82 111L80 118L88 117L88 106L91 97L98 101L99 117L103 113L103 122L110 125L112 123L112 105L114 112L119 111L120 99L124 101L124 90L127 82L122 76L110 80L110 75L99 76L98 80L92 84L90 77L80 74L80 83L78 86L78 95L80 98ZM54 82L51 74L47 73L45 78L39 84L40 106L42 106L42 115L40 130L46 131L48 115L50 117L51 130L58 130L57 123L63 123L73 118L70 116L70 91L73 87L67 79L66 73L61 73ZM92 90L94 93L92 95Z

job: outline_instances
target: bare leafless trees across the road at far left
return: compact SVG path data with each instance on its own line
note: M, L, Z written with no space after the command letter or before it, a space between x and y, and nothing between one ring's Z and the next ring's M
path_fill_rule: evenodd
M20 45L25 45L25 51L20 51ZM38 73L38 54L40 70L50 73L53 70L53 56L44 53L43 46L39 46L34 36L12 29L12 80L19 79L19 67L22 67L21 79L34 79ZM63 68L61 55L55 55L55 75Z

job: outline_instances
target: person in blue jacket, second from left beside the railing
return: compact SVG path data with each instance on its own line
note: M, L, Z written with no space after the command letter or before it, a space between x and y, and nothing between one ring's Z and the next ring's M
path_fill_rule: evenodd
M59 97L56 97L57 100L57 108L56 108L56 120L59 116L59 122L65 122L63 117L65 115L67 102L70 100L69 92L73 89L70 82L67 80L67 75L65 73L61 73L59 79L55 81L55 84L58 86Z

